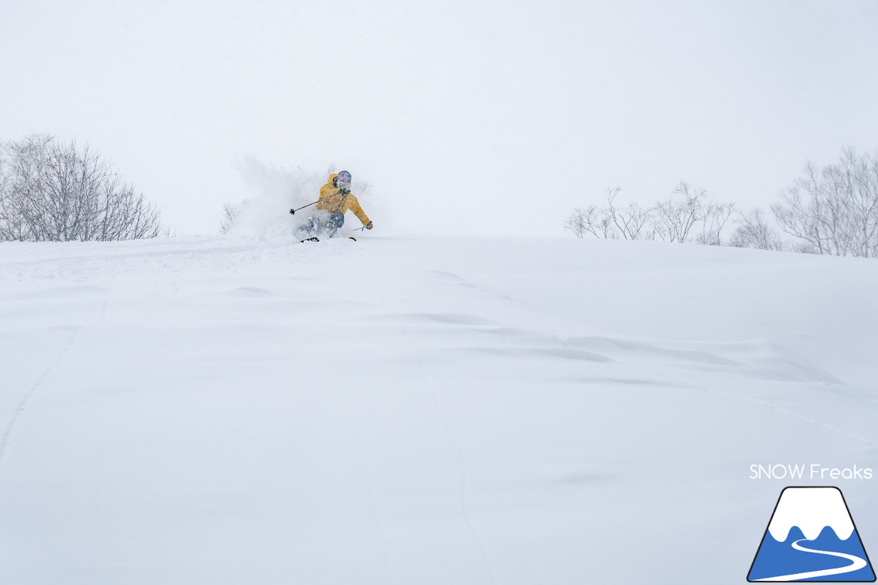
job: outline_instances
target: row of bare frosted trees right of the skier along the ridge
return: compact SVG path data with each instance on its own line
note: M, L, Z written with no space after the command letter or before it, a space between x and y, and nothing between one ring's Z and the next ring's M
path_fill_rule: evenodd
M748 212L718 203L707 191L680 182L672 195L649 207L616 202L608 189L603 206L577 207L565 227L578 237L662 240L773 249L834 256L878 256L878 152L845 148L838 162L802 176L771 206ZM723 230L731 234L723 239Z

